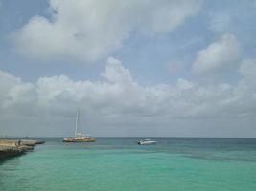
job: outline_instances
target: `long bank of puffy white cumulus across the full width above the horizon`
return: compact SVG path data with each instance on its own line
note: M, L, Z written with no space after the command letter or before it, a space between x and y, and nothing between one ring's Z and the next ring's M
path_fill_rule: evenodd
M33 105L40 111L68 112L77 106L94 115L105 117L216 117L227 115L233 107L240 115L243 107L256 94L256 70L253 60L241 66L242 80L230 84L200 85L196 81L178 79L175 86L158 84L141 86L134 81L121 61L109 58L101 81L73 81L65 75L40 77L35 84L0 73L1 110ZM247 97L250 97L248 99ZM246 104L244 105L244 100ZM25 109L25 108L24 108ZM244 107L245 109L245 107ZM30 110L27 108L26 110ZM254 108L253 108L254 110ZM14 110L15 111L15 110Z

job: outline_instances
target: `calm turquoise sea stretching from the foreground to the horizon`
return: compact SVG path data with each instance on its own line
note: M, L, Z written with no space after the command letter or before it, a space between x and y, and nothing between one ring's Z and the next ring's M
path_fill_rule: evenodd
M0 163L0 190L256 190L256 139L98 138L47 143Z

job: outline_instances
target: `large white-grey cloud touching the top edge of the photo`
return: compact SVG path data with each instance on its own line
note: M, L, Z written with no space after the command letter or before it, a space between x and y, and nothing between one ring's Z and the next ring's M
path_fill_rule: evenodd
M130 32L170 32L195 15L200 0L51 0L51 19L33 17L12 34L19 53L94 61L122 47Z

